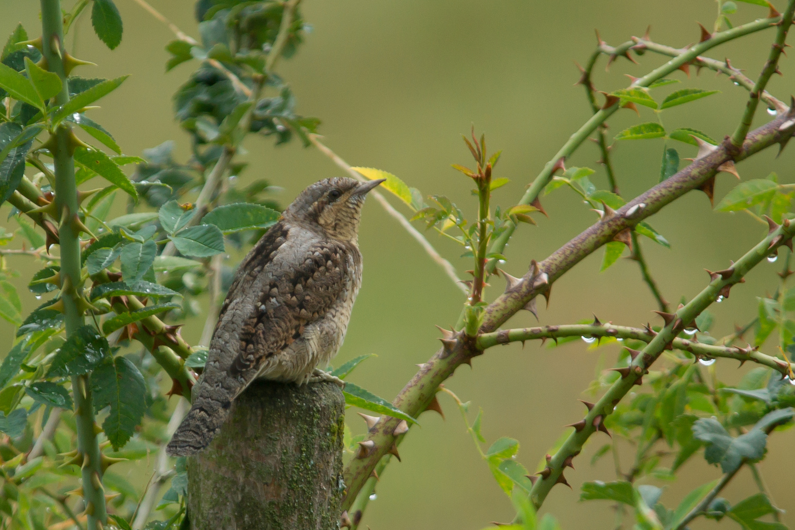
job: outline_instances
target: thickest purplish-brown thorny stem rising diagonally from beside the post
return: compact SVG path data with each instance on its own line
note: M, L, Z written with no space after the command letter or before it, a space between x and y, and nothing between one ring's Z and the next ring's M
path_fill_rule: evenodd
M785 127L790 118L789 115L778 116L750 133L743 148L735 154L735 161L750 157L792 135L795 123ZM496 331L502 323L525 307L525 304L528 304L535 296L549 289L549 284L553 280L562 276L600 246L610 242L619 231L634 226L688 191L698 188L704 181L714 176L719 165L728 159L729 155L725 145L719 146L711 154L693 162L687 168L681 169L677 174L619 208L616 215L601 219L584 230L538 264L541 272L549 278L547 283L536 285L533 280L533 272L530 271L525 274L525 277L522 277L521 282L489 304L484 311L483 326L480 328L480 332ZM645 206L640 207L641 204ZM626 215L630 209L633 209L634 216L628 219ZM436 354L421 366L411 381L397 394L393 404L403 412L417 417L436 397L439 385L450 377L463 362L469 362L473 356L480 353L479 350L469 349L459 336L454 345L437 350ZM398 420L394 419L379 421L378 424L375 424L366 436L366 439L373 440L375 443L373 451L370 451L370 455L354 458L348 462L344 474L348 489L346 497L343 499L343 509L351 507L356 494L359 493L364 482L370 476L370 471L374 469L382 456L387 454L392 444L399 444L405 437L405 435L395 436L393 434L397 424Z

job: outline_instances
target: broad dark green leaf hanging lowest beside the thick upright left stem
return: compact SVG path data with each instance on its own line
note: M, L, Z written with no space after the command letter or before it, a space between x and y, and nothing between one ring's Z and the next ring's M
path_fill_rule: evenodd
M138 368L127 358L105 358L91 373L94 410L110 406L102 428L114 450L123 447L146 412L146 383Z

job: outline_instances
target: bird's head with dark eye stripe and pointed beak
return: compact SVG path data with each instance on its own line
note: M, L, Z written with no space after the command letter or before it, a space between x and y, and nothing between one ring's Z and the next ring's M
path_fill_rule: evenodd
M367 192L383 181L359 182L347 177L320 180L301 191L285 210L285 219L319 227L331 238L355 241Z

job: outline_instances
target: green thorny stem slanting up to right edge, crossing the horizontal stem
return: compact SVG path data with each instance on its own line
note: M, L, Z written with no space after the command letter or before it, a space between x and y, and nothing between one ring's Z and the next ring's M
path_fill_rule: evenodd
M755 265L758 265L760 261L769 256L771 250L778 249L778 246L781 246L784 240L792 238L793 234L795 234L795 223L789 223L789 226L779 226L778 229L772 230L766 238L762 239L753 249L749 250L732 265L731 269L727 269L731 273L727 273L725 279L717 275L687 305L677 310L665 327L634 357L626 375L622 374L622 377L615 381L610 389L607 389L607 392L588 411L584 418L584 424L581 427L576 427L575 431L568 436L568 439L560 447L560 450L553 456L548 466L549 473L539 478L533 485L533 489L530 490L530 501L533 502L537 509L544 503L550 489L556 484L560 474L563 473L566 458L578 454L588 438L595 433L598 426L595 424L597 416L599 416L599 421L603 421L604 418L609 416L613 412L615 405L619 404L622 397L630 392L636 381L641 380L643 374L648 371L653 362L657 361L657 358L660 357L665 348L676 339L687 323L692 322L701 311L704 311L715 302L723 288L731 288L732 285L743 280L743 277L750 269L753 269Z

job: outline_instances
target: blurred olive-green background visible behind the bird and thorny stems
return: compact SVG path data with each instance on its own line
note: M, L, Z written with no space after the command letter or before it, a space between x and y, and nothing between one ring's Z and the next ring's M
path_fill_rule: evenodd
M198 36L191 0L151 3L180 29ZM71 2L65 5L71 6ZM125 31L114 52L94 36L88 17L83 17L78 27L76 56L99 64L98 68L84 68L81 75L110 78L131 74L120 90L103 100L103 108L95 110L92 118L114 133L127 154L140 155L142 149L173 139L177 158L184 160L188 137L173 119L171 95L196 63L165 73L168 54L164 47L173 34L133 0L118 0L117 5ZM460 134L468 133L471 124L487 133L490 149L503 149L495 176L508 177L511 182L496 192L493 202L511 206L590 114L582 87L572 85L579 76L572 60L587 60L595 44L595 28L608 43L619 44L652 25L654 40L681 47L698 40L696 21L712 26L716 11L711 0L305 0L301 9L312 33L297 56L279 67L297 96L297 112L321 118L324 141L352 165L393 172L425 195L448 195L460 206L470 207L470 215L474 213L471 185L450 164L468 163ZM19 21L31 35L37 35L38 11L38 2L33 0L0 0L0 36L10 33ZM761 7L739 4L735 21L764 14ZM757 33L715 49L712 56L730 57L733 65L746 68L753 78L762 67L772 37L772 31ZM596 68L596 87L607 91L624 87L628 80L622 74L642 75L665 59L647 53L639 61L641 64L635 65L619 60L606 73L603 58ZM792 61L784 59L784 77L776 76L770 83L770 91L779 99L788 99L793 91ZM698 76L693 71L690 79L682 72L672 76L684 83L659 89L659 94L682 87L715 88L722 94L667 110L666 127L689 126L715 138L734 130L746 91L725 77L715 78L712 72ZM610 135L653 120L646 107L641 107L641 114L638 118L630 110L620 111L611 119ZM757 122L768 118L762 110ZM270 140L250 138L246 149L242 159L250 162L247 178L266 177L284 188L279 197L284 205L313 181L341 175L321 153L297 142L273 147ZM613 150L619 185L627 199L657 183L661 149L662 141L657 139L625 142ZM677 149L682 157L692 157L696 151L684 144ZM795 149L790 148L775 159L776 149L769 149L739 164L739 172L747 179L763 178L774 170L781 182L793 182L793 153ZM586 142L567 165L595 168L595 182L606 188L603 170L595 163L598 157L595 145ZM721 174L716 199L735 184L733 177ZM525 273L530 259L543 259L595 220L595 214L573 192L563 189L549 195L544 206L549 219L538 217L538 226L522 226L507 249L505 269L514 276ZM706 195L700 192L665 208L651 224L669 239L672 249L646 239L643 248L664 296L674 303L704 287L708 280L704 268L727 266L729 259L739 257L766 230L750 216L712 212ZM462 277L463 270L471 268L469 260L458 258L460 248L432 232L429 239ZM360 246L366 263L364 284L337 363L359 354L378 354L360 366L352 380L391 399L415 373L414 364L424 362L439 345L433 324L454 323L463 297L372 200L363 215ZM635 263L621 260L606 273L599 273L601 255L599 251L556 282L549 308L539 304L541 323L572 323L590 317L591 312L603 321L627 325L655 322L650 310L656 304ZM14 265L25 271L25 263ZM712 308L717 322L713 335L725 335L734 323L754 317L755 297L774 292L778 269L778 265L763 263L746 284L732 290L731 299ZM27 280L20 278L21 289ZM502 291L502 280L494 278L491 283L490 294L496 296ZM32 309L34 302L29 296L25 311ZM522 311L510 325L533 322L532 315ZM11 333L10 325L0 322L3 348L10 345ZM200 333L200 319L195 319L183 335L195 343ZM767 349L774 353L773 346ZM535 470L565 430L562 426L582 416L583 406L576 399L588 398L580 391L594 377L600 356L605 362L614 362L616 354L615 346L592 350L580 341L556 350L541 349L537 343L528 343L524 350L521 345L506 346L476 358L473 369L463 367L446 387L462 400L471 400L473 412L483 408L483 434L489 443L501 435L519 439L518 460ZM739 380L745 370L723 361L716 363L716 369L728 381ZM479 460L455 404L444 394L440 400L447 420L436 414L422 416L421 428L413 429L401 445L403 462L394 462L382 475L376 489L378 498L366 513L364 523L370 528L477 529L491 520L510 520L510 501L491 478L486 463ZM364 430L358 416L351 415L348 421L353 431ZM591 439L584 455L576 460L576 471L568 471L574 491L556 487L544 506L544 511L559 518L563 528L610 528L614 520L607 502L577 502L582 482L615 477L609 458L596 466L588 463L593 451L605 442L599 436L604 435ZM790 510L782 520L787 524L795 524L793 443L793 430L776 433L768 444L769 456L760 466L775 503ZM629 451L630 447L624 444L623 449ZM622 463L630 465L629 453ZM135 482L149 477L143 465L130 466L128 472L131 479L136 474L141 477ZM662 501L676 505L694 486L718 476L719 470L703 458L693 458L677 482L667 486ZM723 495L739 501L755 491L750 474L743 470ZM713 525L713 521L698 520L692 526Z

